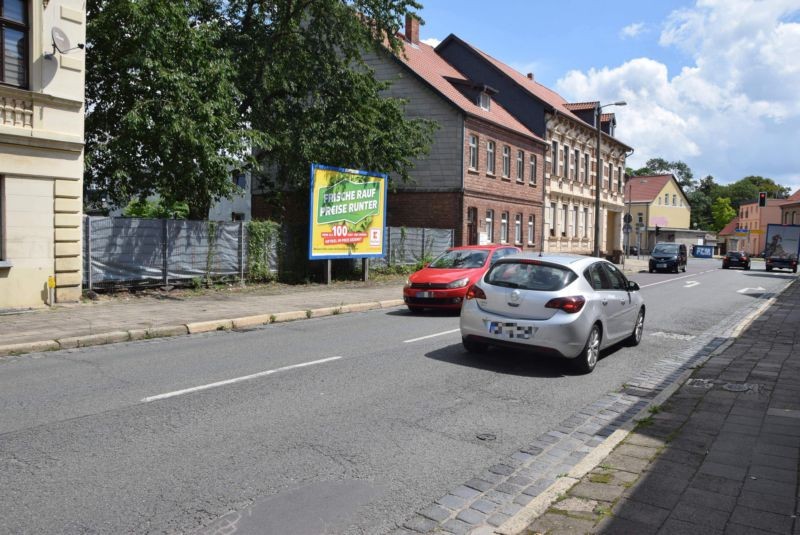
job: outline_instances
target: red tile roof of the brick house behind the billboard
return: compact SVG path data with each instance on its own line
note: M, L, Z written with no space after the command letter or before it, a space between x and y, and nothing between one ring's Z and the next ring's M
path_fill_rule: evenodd
M398 36L403 37L402 34ZM425 43L412 45L405 40L403 44L405 57L402 55L395 57L461 111L544 143L542 138L525 127L496 100L492 99L489 110L484 110L476 102L465 97L450 80L465 83L469 83L470 80L439 56L432 46Z

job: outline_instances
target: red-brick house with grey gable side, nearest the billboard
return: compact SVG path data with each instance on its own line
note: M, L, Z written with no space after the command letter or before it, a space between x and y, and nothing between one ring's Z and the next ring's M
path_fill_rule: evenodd
M368 55L387 95L407 100L409 117L435 120L429 155L411 183L390 176L390 226L452 228L456 245L507 243L541 247L546 143L497 100L495 88L464 75L419 41L406 21L404 53Z

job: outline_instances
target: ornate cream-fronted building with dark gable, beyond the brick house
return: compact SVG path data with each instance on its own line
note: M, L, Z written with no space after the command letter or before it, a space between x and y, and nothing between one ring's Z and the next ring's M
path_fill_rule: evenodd
M456 69L497 89L496 99L522 124L545 139L544 250L591 254L594 250L598 102L568 103L560 95L454 35L436 52ZM631 147L614 137L614 114L600 116L599 250L622 249L625 159Z

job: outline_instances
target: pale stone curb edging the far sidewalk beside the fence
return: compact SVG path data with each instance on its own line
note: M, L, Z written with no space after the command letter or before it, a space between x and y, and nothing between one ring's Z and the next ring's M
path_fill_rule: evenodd
M22 342L19 344L0 345L0 358L24 355L26 353L41 353L44 351L58 351L61 349L76 349L97 345L114 344L147 340L150 338L164 338L199 334L214 331L230 331L283 323L310 318L321 318L345 314L348 312L366 312L394 308L403 304L402 299L389 299L385 301L371 301L366 303L351 303L338 307L312 308L309 310L290 310L273 314L256 314L233 319L218 319L209 321L195 321L182 325L161 325L149 329L130 329L128 331L111 331L107 333L86 334L81 336L68 336L56 340L39 340L36 342Z

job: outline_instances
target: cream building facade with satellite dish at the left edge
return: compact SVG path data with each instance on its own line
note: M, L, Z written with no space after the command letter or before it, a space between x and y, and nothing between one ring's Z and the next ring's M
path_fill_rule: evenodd
M0 309L77 301L85 2L0 6Z

